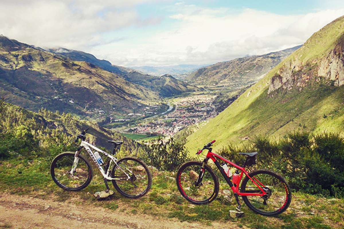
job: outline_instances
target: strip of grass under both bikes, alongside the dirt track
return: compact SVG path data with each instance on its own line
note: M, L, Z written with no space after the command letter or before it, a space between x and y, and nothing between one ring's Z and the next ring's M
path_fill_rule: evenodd
M176 218L180 221L200 221L210 225L214 220L231 222L236 227L250 228L343 228L344 199L325 198L301 192L293 193L291 206L287 211L276 217L264 217L249 210L242 203L245 216L232 219L229 210L234 210L236 202L233 195L225 199L221 192L208 205L189 204L179 193L175 184L175 173L155 172L150 192L139 199L129 199L115 192L111 200L97 201L93 193L104 190L105 185L98 172L89 186L80 192L67 192L58 188L49 174L49 163L44 160L8 160L0 164L0 192L16 195L39 196L55 201L69 201L80 206L90 205L109 209L110 211L126 212L127 214L148 214L164 218ZM19 174L18 171L22 173ZM226 187L220 179L221 187ZM109 183L109 185L111 185ZM228 187L227 187L228 188ZM76 201L79 199L79 201ZM243 202L241 200L241 202ZM4 225L4 228L11 225Z

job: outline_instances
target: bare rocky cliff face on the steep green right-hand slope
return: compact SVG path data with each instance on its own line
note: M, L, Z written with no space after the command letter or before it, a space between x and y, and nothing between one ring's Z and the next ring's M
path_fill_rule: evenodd
M271 77L268 94L279 88L290 90L298 87L302 90L310 79L318 81L321 77L334 81L335 86L344 84L344 36L341 42L320 59L307 64L298 59L285 63Z

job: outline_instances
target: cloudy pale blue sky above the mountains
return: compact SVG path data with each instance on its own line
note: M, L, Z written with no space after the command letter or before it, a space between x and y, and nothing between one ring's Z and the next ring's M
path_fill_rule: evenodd
M304 43L338 0L0 0L0 34L120 66L213 64Z

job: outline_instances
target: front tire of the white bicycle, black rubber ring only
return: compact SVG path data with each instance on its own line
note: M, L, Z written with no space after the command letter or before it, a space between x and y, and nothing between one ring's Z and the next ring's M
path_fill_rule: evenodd
M54 170L54 168L56 167L56 162L58 160L60 160L62 157L66 157L66 156L73 156L73 158L74 158L74 155L75 155L74 152L64 152L64 153L58 154L50 164L50 174L51 174L53 181L55 182L55 184L58 187L65 189L65 190L68 190L68 191L79 191L79 190L84 189L91 182L92 177L93 177L93 170L92 170L92 167L90 166L89 162L85 159L85 157L83 157L82 155L79 155L79 160L81 159L82 161L84 161L85 164L87 165L87 168L88 168L88 177L87 177L86 182L84 184L82 184L81 186L74 188L74 187L67 187L58 181L58 179L55 176L55 170Z

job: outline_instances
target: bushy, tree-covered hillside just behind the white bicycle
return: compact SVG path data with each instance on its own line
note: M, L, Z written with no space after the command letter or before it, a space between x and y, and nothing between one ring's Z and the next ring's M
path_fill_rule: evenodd
M87 128L87 139L98 146L112 149L107 140L122 140L123 152L135 152L138 149L139 145L135 141L110 132L98 124L76 120L71 114L61 114L58 111L53 113L45 109L35 113L0 100L0 135L12 133L16 138L21 138L17 134L27 132L32 134L33 140L38 141L41 147L49 148L55 143L70 144Z

